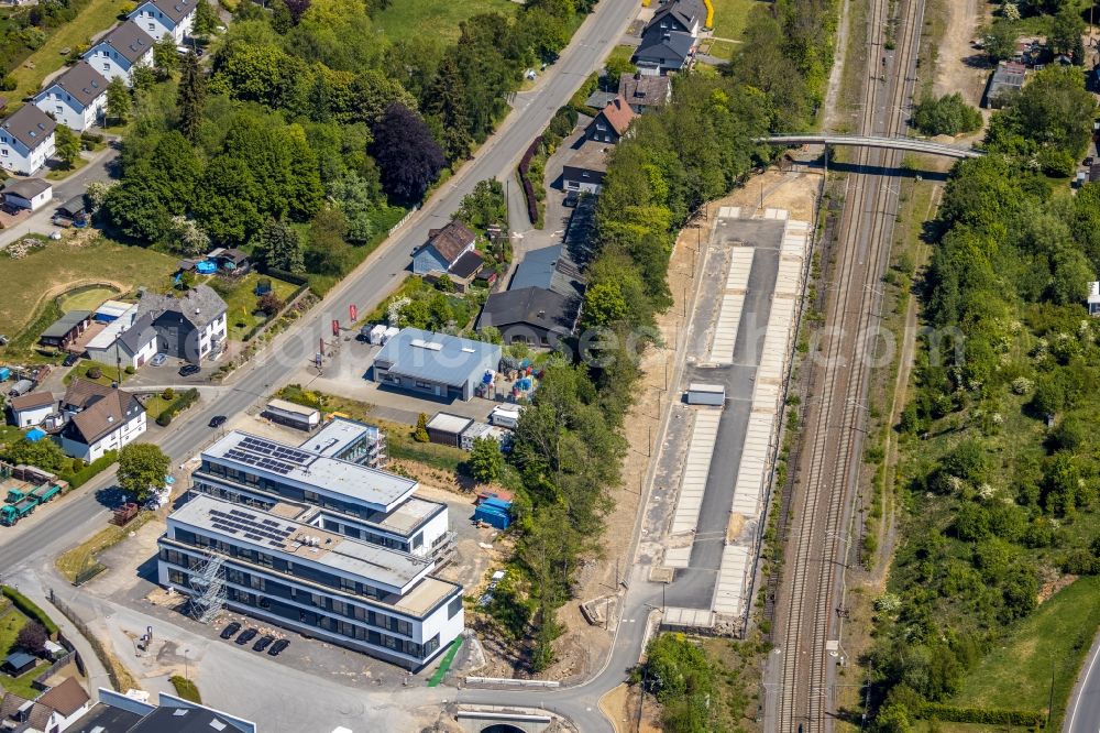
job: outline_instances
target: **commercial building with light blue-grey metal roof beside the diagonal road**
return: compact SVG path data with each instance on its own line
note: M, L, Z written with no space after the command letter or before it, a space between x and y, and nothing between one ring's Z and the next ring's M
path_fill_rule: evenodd
M403 328L374 358L374 381L443 400L470 400L501 366L501 347Z

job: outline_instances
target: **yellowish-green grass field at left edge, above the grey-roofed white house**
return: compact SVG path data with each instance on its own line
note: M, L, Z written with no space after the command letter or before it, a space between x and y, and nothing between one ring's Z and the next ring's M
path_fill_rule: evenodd
M0 333L20 333L66 291L109 283L118 292L156 285L175 271L177 260L103 238L82 236L50 242L22 260L0 261ZM48 326L45 324L43 327ZM37 333L19 339L33 346ZM14 344L13 344L14 346ZM8 352L15 349L9 347Z

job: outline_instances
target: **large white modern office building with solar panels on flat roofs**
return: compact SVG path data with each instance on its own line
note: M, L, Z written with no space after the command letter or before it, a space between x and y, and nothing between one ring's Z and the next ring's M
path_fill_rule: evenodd
M227 608L420 669L464 625L462 587L432 576L452 544L447 505L312 440L233 431L204 450L197 497L157 543L160 582L195 595L191 577L217 562Z

